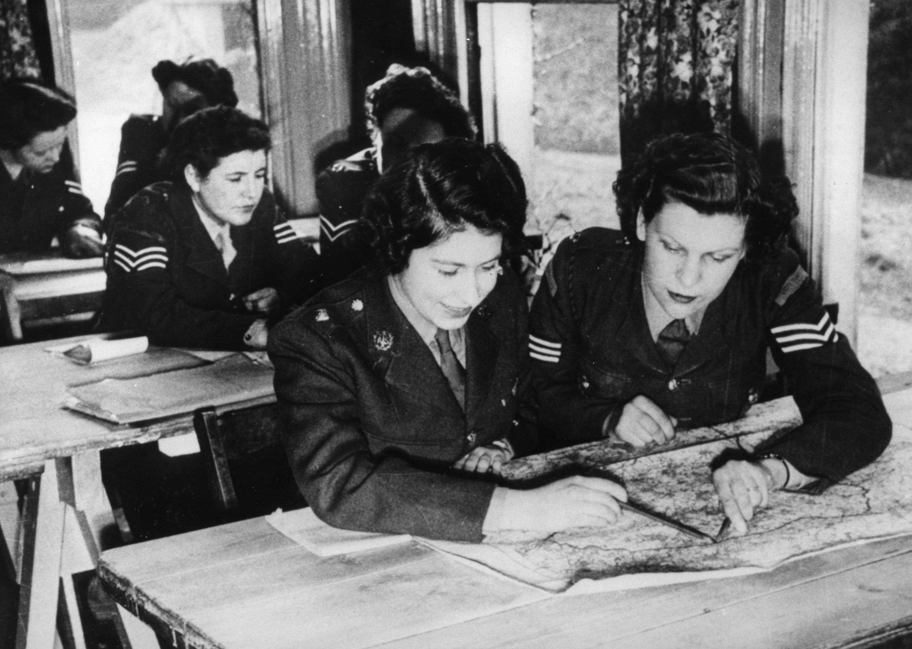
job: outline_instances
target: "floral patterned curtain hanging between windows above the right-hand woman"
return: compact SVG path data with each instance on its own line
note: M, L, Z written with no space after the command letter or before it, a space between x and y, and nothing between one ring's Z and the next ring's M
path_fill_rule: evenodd
M621 157L674 131L731 129L741 0L620 0Z

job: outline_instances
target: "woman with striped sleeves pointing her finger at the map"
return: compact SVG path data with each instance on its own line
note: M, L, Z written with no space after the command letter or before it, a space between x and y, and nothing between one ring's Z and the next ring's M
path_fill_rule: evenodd
M663 444L754 403L772 350L804 423L713 481L735 531L769 489L824 489L877 458L891 424L877 387L785 246L787 179L720 136L653 142L614 185L623 232L562 242L546 268L529 355L551 446Z

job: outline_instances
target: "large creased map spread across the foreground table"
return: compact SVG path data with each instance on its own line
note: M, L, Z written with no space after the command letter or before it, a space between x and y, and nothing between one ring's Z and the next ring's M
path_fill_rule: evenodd
M757 439L751 440L756 443ZM715 534L723 520L710 461L735 440L710 442L610 465L630 498ZM772 570L787 561L859 542L912 534L912 430L895 426L874 464L822 495L773 492L751 531L721 543L697 541L636 515L617 525L546 538L503 531L482 544L425 541L552 592L638 588Z

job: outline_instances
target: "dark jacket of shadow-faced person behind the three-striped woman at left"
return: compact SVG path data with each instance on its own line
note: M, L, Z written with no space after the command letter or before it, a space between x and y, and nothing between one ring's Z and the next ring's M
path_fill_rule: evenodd
M165 180L156 169L161 149L168 140L158 115L130 115L120 127L120 151L117 170L105 204L105 229L110 232L114 214L133 198L137 191Z

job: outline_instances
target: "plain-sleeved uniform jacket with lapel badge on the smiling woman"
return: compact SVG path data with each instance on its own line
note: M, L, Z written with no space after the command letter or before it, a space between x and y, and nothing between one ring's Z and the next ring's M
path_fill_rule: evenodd
M384 273L356 273L270 331L288 458L317 516L481 541L494 484L448 468L496 439L528 448L517 423L524 300L508 272L469 317L465 413Z

